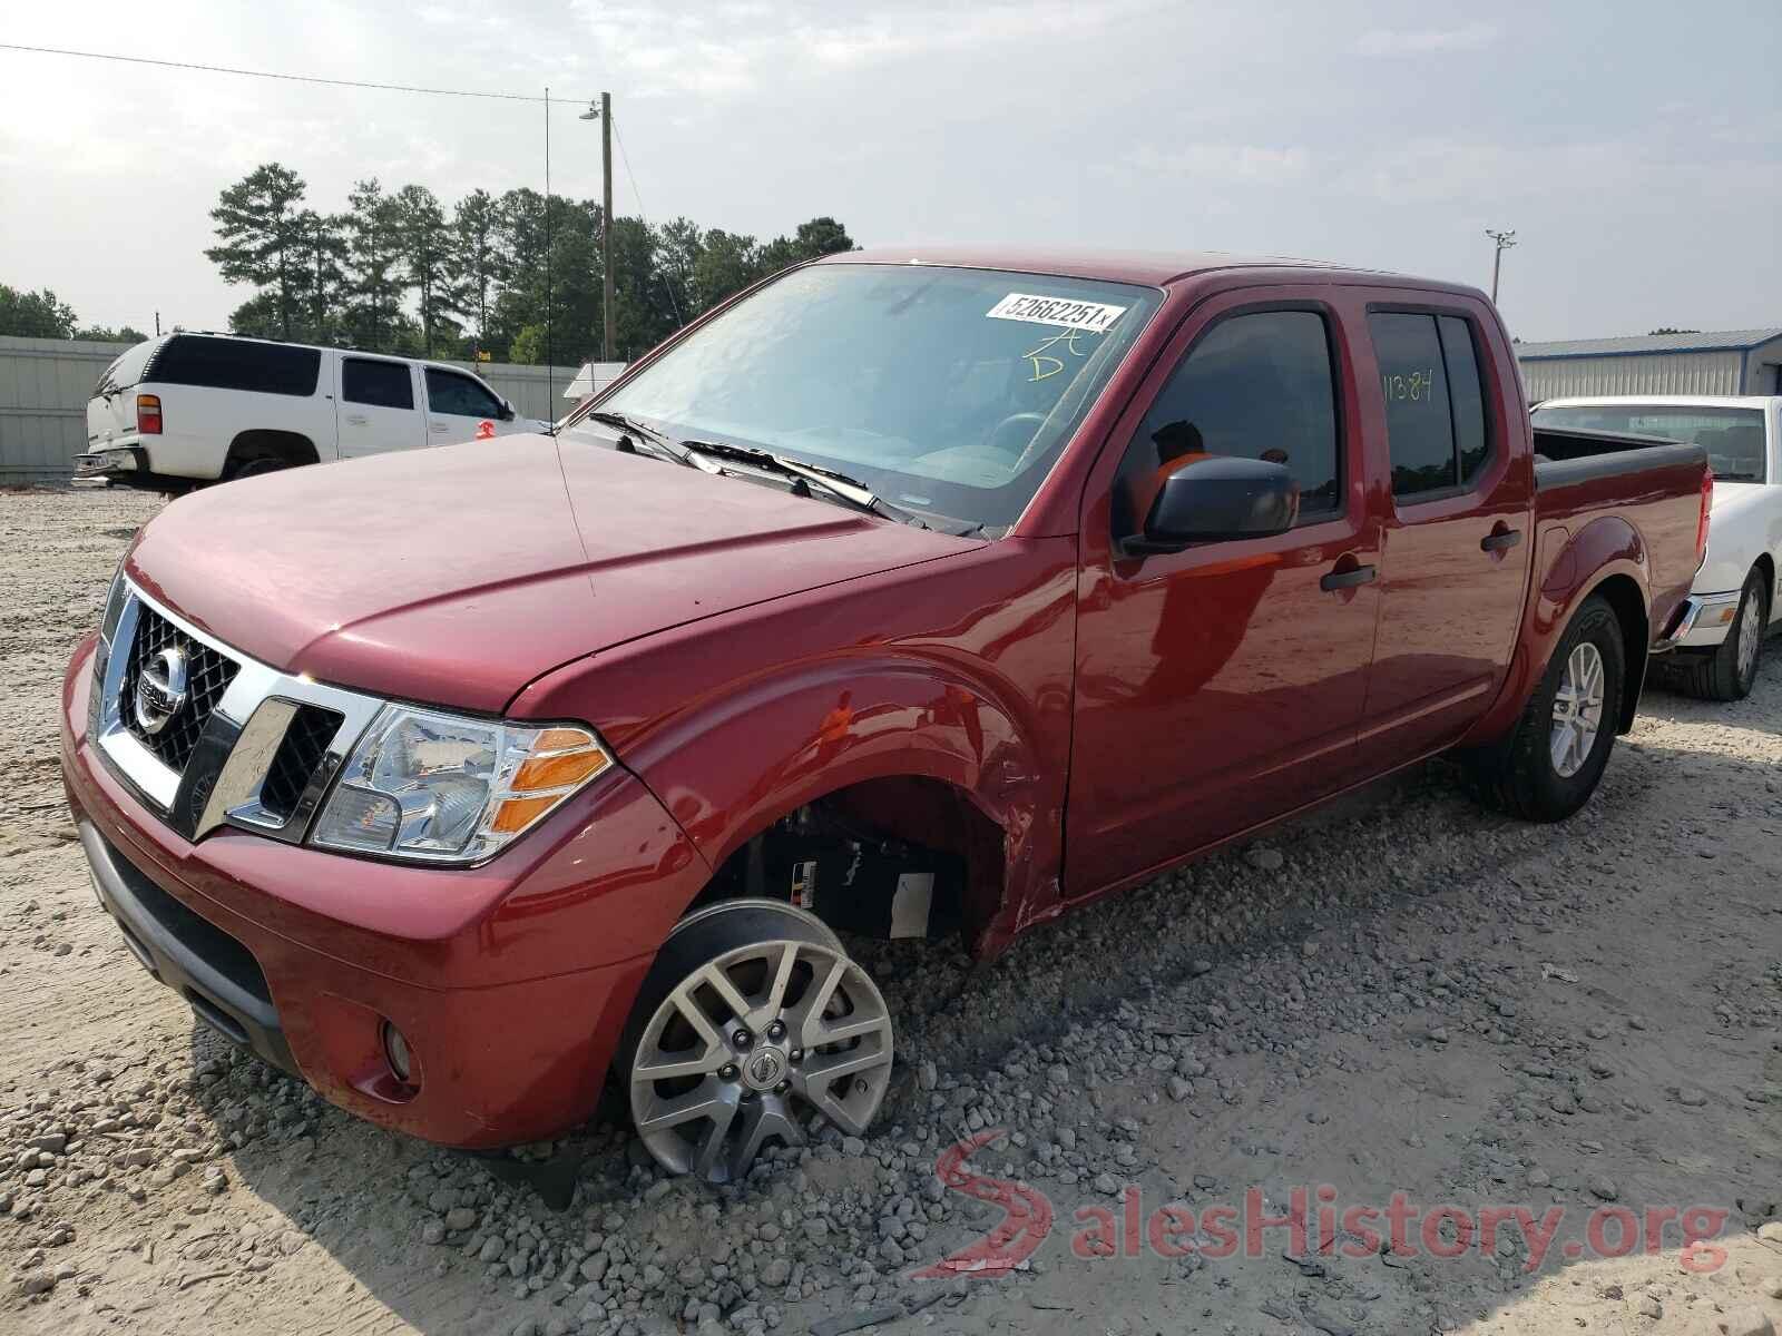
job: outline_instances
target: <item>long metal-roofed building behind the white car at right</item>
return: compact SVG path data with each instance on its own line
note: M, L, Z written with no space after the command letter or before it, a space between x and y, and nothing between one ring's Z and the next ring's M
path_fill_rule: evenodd
M1529 399L1782 394L1782 328L1516 344Z

